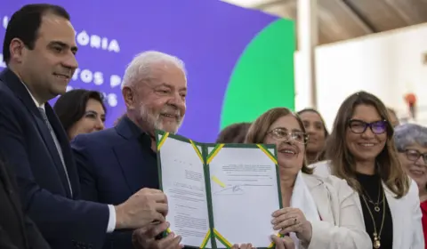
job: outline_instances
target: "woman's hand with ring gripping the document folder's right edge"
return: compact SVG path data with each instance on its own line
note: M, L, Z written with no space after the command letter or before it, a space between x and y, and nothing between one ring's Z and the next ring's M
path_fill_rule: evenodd
M280 230L279 233L286 235L294 232L296 237L310 244L311 223L305 219L304 213L299 208L285 207L273 213L273 229Z

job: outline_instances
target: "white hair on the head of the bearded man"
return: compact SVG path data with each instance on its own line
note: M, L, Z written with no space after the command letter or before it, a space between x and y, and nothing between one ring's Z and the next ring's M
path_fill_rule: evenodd
M186 75L185 65L182 60L165 52L146 51L137 54L125 70L125 76L122 82L122 89L125 86L131 86L134 83L148 79L150 76L150 68L157 63L172 63L178 68L181 68Z

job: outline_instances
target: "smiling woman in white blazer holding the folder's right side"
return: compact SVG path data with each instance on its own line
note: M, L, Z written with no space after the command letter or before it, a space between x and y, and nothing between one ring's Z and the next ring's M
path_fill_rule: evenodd
M275 144L285 208L273 213L274 229L294 239L296 248L370 249L355 192L336 177L313 176L305 164L308 135L287 108L272 108L249 128L246 143Z

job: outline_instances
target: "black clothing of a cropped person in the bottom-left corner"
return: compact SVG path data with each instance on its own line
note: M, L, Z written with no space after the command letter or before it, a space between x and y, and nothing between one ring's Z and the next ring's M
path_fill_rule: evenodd
M49 249L36 225L22 212L12 168L0 159L0 248Z

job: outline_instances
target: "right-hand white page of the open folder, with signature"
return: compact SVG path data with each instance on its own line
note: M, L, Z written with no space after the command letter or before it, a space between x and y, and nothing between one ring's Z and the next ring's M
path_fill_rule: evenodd
M269 246L271 214L280 206L275 163L261 149L222 148L209 172L214 229L230 245Z

